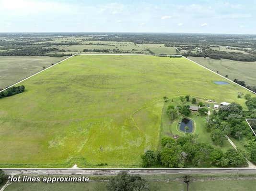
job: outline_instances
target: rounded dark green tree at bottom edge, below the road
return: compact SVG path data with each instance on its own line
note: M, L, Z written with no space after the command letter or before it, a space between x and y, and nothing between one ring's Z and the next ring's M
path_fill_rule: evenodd
M149 183L139 175L121 172L107 183L108 191L149 191Z

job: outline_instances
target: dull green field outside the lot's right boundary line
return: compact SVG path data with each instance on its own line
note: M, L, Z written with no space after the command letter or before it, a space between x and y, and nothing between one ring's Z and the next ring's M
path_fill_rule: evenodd
M256 62L239 62L226 59L215 60L203 57L189 57L189 59L215 72L219 70L221 75L228 75L228 78L231 80L237 78L243 80L246 85L256 85Z

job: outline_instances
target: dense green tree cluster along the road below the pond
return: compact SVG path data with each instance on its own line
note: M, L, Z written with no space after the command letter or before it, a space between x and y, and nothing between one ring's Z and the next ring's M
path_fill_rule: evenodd
M238 167L246 165L241 150L228 149L223 153L206 143L197 143L197 135L187 134L178 139L163 138L162 149L148 150L141 156L143 167Z

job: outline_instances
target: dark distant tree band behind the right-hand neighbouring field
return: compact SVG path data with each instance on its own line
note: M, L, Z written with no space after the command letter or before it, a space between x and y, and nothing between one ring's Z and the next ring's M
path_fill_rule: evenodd
M235 52L226 52L226 51L217 51L217 50L203 50L202 52L192 53L188 51L187 53L183 54L184 56L195 56L195 57L209 57L212 59L220 60L229 59L235 61L243 61L243 62L255 62L256 55L252 54L243 54L243 53L235 53Z

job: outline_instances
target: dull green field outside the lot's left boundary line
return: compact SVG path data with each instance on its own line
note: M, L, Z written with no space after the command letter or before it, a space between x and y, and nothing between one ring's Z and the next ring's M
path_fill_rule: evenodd
M0 88L12 85L25 77L65 59L47 56L0 56Z

